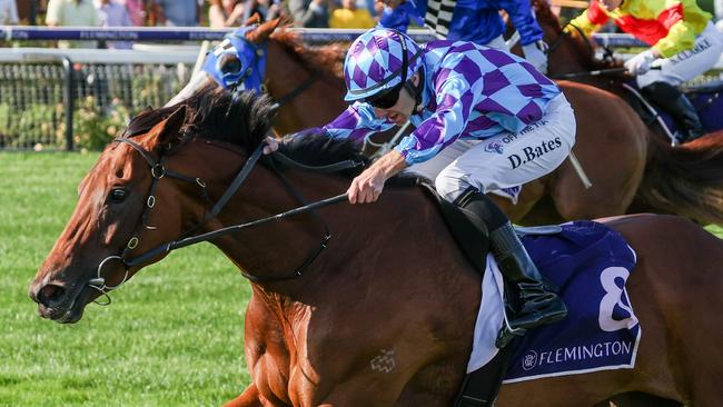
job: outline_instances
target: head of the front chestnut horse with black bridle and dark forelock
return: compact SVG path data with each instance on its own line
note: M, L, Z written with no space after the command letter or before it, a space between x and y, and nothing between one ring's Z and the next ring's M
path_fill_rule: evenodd
M219 145L240 132L242 150L257 148L268 130L268 101L254 105L252 97L206 88L181 105L140 113L103 150L30 285L42 317L78 321L88 302L164 258L164 245L202 232L210 220L218 225L208 216L212 197L242 162ZM199 141L210 133L216 142Z

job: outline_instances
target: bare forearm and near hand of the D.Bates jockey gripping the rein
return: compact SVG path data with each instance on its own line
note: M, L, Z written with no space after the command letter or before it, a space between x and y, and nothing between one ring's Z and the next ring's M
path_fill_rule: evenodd
M356 177L346 193L350 204L376 202L389 177L407 167L400 153L392 150Z

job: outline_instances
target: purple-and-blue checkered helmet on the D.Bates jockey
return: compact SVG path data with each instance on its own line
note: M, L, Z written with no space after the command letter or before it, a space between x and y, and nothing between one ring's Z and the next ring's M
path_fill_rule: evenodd
M419 51L419 46L414 40L384 28L373 28L359 36L351 43L344 62L347 87L344 100L350 102L364 99L399 85L405 48L407 78L410 78L420 66L419 58L414 58Z

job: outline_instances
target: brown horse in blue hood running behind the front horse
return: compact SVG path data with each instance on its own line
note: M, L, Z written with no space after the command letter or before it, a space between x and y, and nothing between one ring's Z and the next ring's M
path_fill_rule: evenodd
M278 133L328 122L346 108L341 76L346 50L338 44L310 49L294 33L277 30L278 23L244 28L231 38L234 42L221 46L232 44L235 52L225 52L211 70L250 75L256 83L242 81L247 89L258 89L264 81L265 90L278 103L274 120ZM172 102L218 81L200 72ZM553 224L645 209L701 224L723 224L719 205L723 197L723 172L719 171L723 168L723 138L671 149L650 137L650 130L621 98L575 82L562 81L561 87L575 109L574 152L593 186L586 188L566 161L549 176L525 185L516 205L493 196L514 222Z

